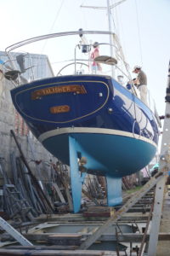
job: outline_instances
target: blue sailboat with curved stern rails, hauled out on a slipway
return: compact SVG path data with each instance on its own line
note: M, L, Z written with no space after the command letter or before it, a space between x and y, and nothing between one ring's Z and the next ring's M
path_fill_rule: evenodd
M93 60L105 72L92 68L90 56L94 43L88 43L86 37L96 39L97 35L115 38L110 31L79 29L26 39L6 49L13 67L6 77L17 85L11 90L14 107L39 142L70 166L74 212L80 210L82 184L89 173L106 178L109 206L121 204L122 177L147 166L156 154L158 143L154 113L140 100L133 84L127 90L113 77L112 67L118 68L118 61L113 56L112 48L117 45L112 40L109 43L98 40L100 49L109 50ZM76 39L72 40L73 37ZM72 59L52 77L30 76L26 80L30 67L22 71L24 56L17 62L12 51L51 38L69 42ZM63 45L59 43L61 50Z

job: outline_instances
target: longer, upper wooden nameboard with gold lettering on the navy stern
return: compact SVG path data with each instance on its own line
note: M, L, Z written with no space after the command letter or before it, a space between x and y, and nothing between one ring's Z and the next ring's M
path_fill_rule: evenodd
M61 85L61 86L43 88L40 90L34 90L31 93L31 100L37 100L41 96L48 96L48 95L53 95L58 93L66 93L66 92L76 92L77 94L87 93L83 85L78 85L78 84Z

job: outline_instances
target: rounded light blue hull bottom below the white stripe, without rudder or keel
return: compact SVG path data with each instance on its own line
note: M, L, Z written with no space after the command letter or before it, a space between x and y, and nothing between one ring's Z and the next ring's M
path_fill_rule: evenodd
M57 132L54 131L53 134ZM117 135L116 132L115 135L107 134L106 129L103 132L105 133L75 132L69 135L52 135L51 132L42 144L62 162L69 165L69 136L71 136L78 142L81 156L88 160L86 164L88 173L111 177L123 177L138 172L156 154L155 143L150 143L143 137L136 139L130 133L126 136ZM59 148L56 145L59 145Z

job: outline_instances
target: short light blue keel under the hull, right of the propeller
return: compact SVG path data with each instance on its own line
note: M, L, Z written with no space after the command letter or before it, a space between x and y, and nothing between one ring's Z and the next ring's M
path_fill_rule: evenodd
M115 207L122 203L122 177L106 176L107 181L107 204Z

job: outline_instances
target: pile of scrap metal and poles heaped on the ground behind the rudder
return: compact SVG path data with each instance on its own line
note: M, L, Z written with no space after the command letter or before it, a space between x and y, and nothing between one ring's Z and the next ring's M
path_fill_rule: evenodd
M33 174L20 143L11 131L17 145L18 153L10 153L10 178L7 174L6 160L0 157L0 178L3 185L0 187L1 216L6 219L13 219L15 222L31 221L40 214L52 214L54 212L72 212L72 198L70 175L68 166L61 162L50 162L50 174L48 181L44 182L43 177L36 177ZM16 155L17 154L17 155ZM38 167L39 162L35 160ZM98 191L98 193L97 193ZM89 178L88 184L82 189L84 201L94 201L95 198L105 198L105 181L96 177Z

